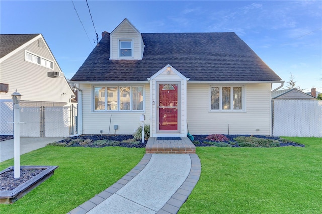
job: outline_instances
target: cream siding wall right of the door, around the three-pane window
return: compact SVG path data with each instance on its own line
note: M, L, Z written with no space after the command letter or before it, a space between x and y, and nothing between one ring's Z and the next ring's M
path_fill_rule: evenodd
M229 134L270 134L269 83L244 86L244 111L209 111L209 86L188 82L187 121L190 134L228 134L228 131Z

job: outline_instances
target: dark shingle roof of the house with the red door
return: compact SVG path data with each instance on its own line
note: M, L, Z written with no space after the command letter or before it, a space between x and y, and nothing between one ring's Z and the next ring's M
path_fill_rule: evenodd
M142 60L109 60L106 34L72 81L146 81L167 64L190 81L279 81L235 33L142 33Z

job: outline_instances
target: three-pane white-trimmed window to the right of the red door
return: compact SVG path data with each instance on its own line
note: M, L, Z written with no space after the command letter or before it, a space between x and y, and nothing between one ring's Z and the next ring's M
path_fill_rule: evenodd
M211 110L244 110L243 86L211 86Z

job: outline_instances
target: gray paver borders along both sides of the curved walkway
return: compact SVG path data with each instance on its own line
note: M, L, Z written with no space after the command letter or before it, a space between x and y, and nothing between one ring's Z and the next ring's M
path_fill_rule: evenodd
M197 154L189 154L191 159L191 169L187 179L183 182L181 187L176 191L176 193L168 200L168 202L157 212L157 213L177 213L184 202L188 199L191 191L197 184L200 173L201 164L200 159ZM74 208L67 214L85 214L95 206L103 202L105 199L109 198L119 189L121 189L125 184L132 180L138 173L144 169L147 163L150 161L152 154L145 154L142 160L126 175L124 175L120 180L114 183L112 186L105 189L103 192L95 195L90 200Z

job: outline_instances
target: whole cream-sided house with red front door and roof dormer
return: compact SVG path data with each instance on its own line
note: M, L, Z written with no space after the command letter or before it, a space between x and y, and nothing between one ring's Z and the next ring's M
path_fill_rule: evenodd
M71 79L82 134L270 135L272 83L284 81L235 33L140 33L124 19Z

